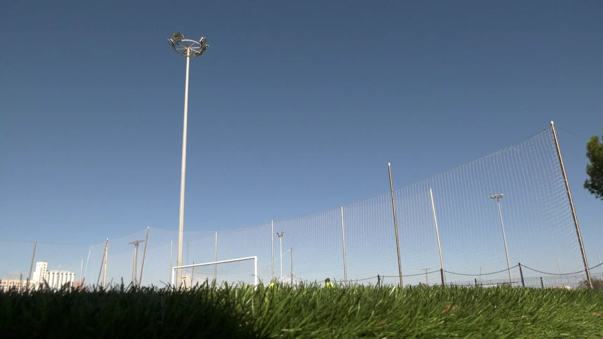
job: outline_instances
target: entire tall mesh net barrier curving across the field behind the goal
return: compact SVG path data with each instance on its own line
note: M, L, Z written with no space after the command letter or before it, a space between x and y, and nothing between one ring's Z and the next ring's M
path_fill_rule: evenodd
M110 239L107 251L106 242L38 244L36 261L62 265L86 277L86 284L130 284L135 277L139 284L158 286L171 284L177 265L251 256L257 257L256 276L265 284L273 278L290 281L291 273L294 282L399 284L401 270L404 285L478 280L517 285L521 262L534 268L523 276L538 282L543 277L545 286L554 281L548 275L584 271L551 129L393 193L400 267L390 192L289 220L187 231L181 263L175 229L150 229L148 239L147 230ZM33 246L0 241L0 270L28 273ZM223 267L220 279L238 277L229 276L235 268ZM219 273L200 270L199 279Z

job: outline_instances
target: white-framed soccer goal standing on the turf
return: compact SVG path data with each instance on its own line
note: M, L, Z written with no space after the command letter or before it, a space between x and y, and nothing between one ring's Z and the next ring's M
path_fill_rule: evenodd
M178 273L180 273L180 284L177 282ZM177 288L178 285L193 287L203 284L206 280L209 282L216 280L218 285L223 285L224 282L229 285L257 285L257 256L172 268L172 287Z

